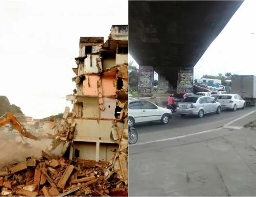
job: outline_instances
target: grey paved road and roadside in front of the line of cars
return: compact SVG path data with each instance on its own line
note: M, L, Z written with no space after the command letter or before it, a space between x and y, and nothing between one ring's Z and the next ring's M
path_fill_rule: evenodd
M138 125L129 196L255 196L256 132L241 128L254 110Z

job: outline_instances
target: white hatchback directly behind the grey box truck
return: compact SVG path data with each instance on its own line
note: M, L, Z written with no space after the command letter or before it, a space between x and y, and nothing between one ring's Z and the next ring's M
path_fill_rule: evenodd
M233 109L233 111L238 108L244 109L246 106L245 100L238 94L221 94L217 101L222 109Z

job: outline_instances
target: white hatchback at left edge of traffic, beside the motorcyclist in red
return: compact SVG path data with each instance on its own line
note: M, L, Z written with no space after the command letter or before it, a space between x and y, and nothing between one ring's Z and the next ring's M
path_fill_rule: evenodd
M133 127L135 123L160 120L167 124L172 118L172 111L146 100L129 100L128 123Z

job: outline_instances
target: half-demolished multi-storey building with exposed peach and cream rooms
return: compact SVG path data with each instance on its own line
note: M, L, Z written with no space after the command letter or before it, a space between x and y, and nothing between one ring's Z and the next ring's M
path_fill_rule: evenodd
M73 68L76 94L67 96L74 102L76 122L70 158L109 161L127 126L120 112L124 109L127 115L128 26L112 26L106 42L103 37L81 37L79 47Z

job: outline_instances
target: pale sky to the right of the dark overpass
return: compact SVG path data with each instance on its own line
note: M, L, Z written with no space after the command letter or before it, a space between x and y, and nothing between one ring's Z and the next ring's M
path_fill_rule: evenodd
M226 72L256 75L255 10L255 0L243 2L194 66L194 79Z

